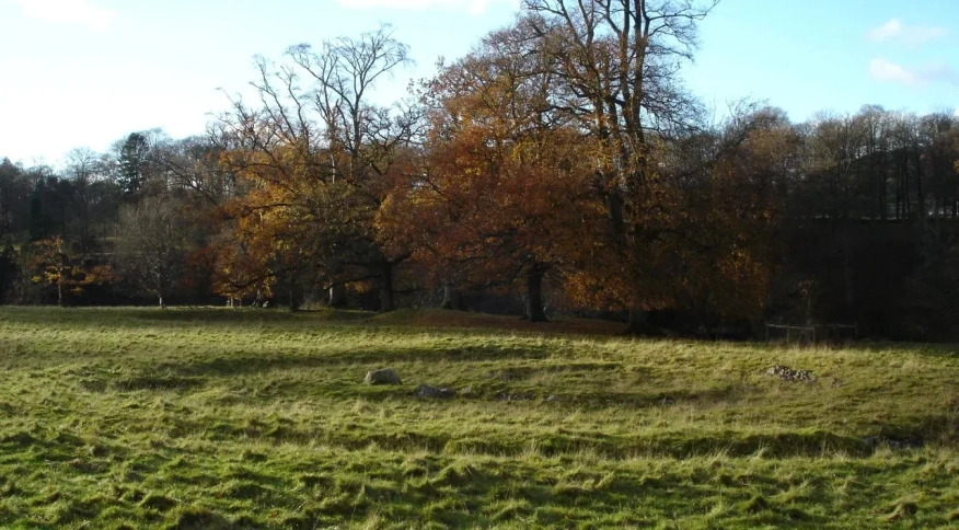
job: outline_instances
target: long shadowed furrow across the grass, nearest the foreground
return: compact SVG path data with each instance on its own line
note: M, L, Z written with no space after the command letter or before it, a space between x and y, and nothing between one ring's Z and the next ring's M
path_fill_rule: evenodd
M644 435L605 435L591 431L538 433L519 437L512 431L487 431L478 427L466 433L409 428L384 431L375 425L350 424L344 428L303 428L267 420L263 423L219 422L203 429L203 438L212 442L236 439L268 443L321 445L350 451L379 450L417 453L488 456L519 458L576 456L584 452L609 460L636 457L689 459L725 454L729 458L755 457L777 459L794 457L850 458L873 456L880 447L869 440L827 430L790 433L762 431L677 431ZM348 427L348 428L347 428ZM883 447L882 450L886 450Z

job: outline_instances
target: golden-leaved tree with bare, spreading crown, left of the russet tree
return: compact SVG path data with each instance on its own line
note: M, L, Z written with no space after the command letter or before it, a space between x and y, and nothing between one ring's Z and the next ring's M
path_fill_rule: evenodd
M250 188L228 209L254 216L250 230L271 234L285 273L313 270L328 287L377 281L384 311L394 307L396 267L409 253L386 251L374 219L418 120L415 108L370 99L408 61L389 26L319 49L294 46L281 64L258 60L259 105L236 102L223 120L236 143L223 163Z

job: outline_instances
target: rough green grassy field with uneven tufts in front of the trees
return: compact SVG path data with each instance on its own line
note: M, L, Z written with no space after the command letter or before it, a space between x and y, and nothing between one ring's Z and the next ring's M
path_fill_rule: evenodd
M959 528L954 348L615 330L0 309L0 527Z

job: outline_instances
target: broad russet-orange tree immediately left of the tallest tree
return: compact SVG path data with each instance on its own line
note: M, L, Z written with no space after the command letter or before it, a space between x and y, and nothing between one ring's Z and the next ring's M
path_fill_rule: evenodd
M484 38L427 85L425 170L380 223L406 230L447 285L525 289L543 322L543 280L582 245L588 195L578 131L552 110L544 57L513 26Z

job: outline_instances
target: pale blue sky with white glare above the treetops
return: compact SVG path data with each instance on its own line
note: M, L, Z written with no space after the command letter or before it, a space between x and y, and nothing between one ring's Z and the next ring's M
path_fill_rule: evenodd
M253 57L393 25L415 66L401 95L508 24L517 0L0 0L0 158L57 164L136 130L201 134ZM688 87L721 114L742 97L796 122L865 104L959 113L959 0L721 0Z

